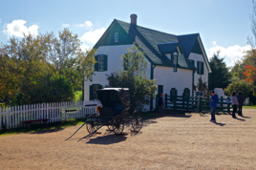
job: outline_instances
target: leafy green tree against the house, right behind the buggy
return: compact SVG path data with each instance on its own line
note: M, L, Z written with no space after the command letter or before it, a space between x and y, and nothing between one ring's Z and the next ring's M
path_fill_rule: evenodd
M142 109L156 95L156 80L148 78L148 62L144 53L134 46L121 56L120 68L108 75L110 87L129 88L131 111Z

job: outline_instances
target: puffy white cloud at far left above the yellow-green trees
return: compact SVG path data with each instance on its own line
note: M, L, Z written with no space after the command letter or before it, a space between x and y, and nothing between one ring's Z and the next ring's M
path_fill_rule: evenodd
M18 36L23 37L23 33L28 35L31 33L32 35L38 34L38 26L32 25L31 27L25 26L27 21L24 20L13 20L11 24L5 24L5 30L4 32L8 34L8 36Z

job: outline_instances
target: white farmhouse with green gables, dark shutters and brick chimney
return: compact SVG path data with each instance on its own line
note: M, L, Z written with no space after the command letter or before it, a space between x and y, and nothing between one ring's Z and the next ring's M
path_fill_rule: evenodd
M157 79L158 94L170 94L175 88L177 95L194 96L194 85L200 76L208 81L211 73L208 58L199 33L174 35L137 25L137 15L131 14L131 23L114 19L97 41L96 66L93 81L84 82L84 99L96 99L96 90L108 85L106 74L115 73L120 57L135 42L145 53L149 68L147 74ZM156 99L147 110L156 107Z

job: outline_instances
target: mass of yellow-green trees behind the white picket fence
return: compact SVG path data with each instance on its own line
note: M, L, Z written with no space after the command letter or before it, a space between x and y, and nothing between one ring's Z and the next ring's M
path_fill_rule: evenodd
M53 32L12 37L0 47L0 99L9 96L12 104L72 100L71 92L92 77L96 62L96 51L82 52L80 45L67 29L58 37Z

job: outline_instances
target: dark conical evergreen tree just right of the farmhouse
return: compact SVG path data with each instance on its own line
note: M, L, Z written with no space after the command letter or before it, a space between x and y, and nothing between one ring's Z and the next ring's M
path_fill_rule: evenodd
M220 58L220 52L214 53L213 57L210 59L210 68L212 73L209 74L208 87L209 90L214 88L226 88L226 86L231 82L231 74L228 72L228 68L224 63L224 58Z

